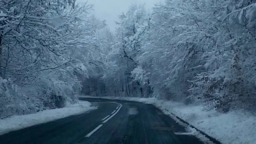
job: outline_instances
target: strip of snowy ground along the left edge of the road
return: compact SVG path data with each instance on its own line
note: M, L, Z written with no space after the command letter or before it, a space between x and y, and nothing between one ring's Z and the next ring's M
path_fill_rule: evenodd
M49 109L22 116L12 116L0 120L0 135L32 125L47 123L72 115L79 115L93 109L96 109L96 107L91 107L90 102L79 100L77 104L68 104L65 108Z

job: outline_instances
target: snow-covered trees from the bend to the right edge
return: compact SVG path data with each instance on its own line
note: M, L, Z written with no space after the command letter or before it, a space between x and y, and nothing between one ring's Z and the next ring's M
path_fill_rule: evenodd
M151 14L131 6L120 15L97 95L255 110L255 3L166 0Z

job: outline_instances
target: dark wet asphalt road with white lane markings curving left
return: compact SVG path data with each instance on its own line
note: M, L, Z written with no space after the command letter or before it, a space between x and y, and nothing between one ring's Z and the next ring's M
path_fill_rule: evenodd
M98 109L0 136L0 144L203 144L169 116L139 102L82 98Z

